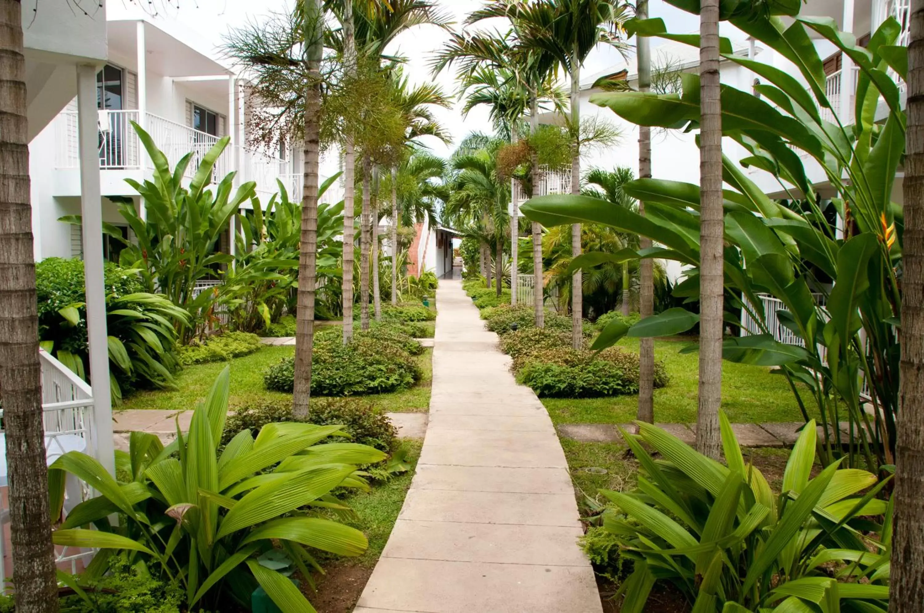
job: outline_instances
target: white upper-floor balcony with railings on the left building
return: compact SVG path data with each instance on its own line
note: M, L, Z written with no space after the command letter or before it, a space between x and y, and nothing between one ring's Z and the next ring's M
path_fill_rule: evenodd
M77 112L66 111L55 119L55 168L65 172L58 177L55 196L79 196L79 147ZM139 123L139 111L100 111L99 148L100 170L102 171L103 194L131 196L134 191L124 179L140 181L152 169L147 156L142 156L140 138L131 126ZM219 138L189 126L165 119L159 115L146 114L145 127L158 149L164 152L170 167L176 166L183 156L192 153L184 177L191 179L205 154L212 149ZM237 154L237 156L236 156ZM237 159L235 159L237 157ZM142 164L145 168L142 169ZM278 157L269 156L249 148L227 148L214 166L214 176L220 180L235 167L239 168L240 182L255 181L257 195L265 203L277 191L276 178L290 177L291 164ZM286 179L286 188L291 180ZM299 192L300 193L300 190ZM291 192L290 192L291 194Z

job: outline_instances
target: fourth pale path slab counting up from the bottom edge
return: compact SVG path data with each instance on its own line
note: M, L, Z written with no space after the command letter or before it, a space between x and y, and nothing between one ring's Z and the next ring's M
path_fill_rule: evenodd
M414 487L469 492L555 494L567 491L571 477L564 467L529 468L417 464Z

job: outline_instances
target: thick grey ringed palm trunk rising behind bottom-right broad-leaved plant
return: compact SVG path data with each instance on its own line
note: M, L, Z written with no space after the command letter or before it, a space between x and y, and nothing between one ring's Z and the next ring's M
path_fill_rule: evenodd
M722 453L723 209L722 103L719 99L719 0L702 0L699 13L699 412L697 451Z

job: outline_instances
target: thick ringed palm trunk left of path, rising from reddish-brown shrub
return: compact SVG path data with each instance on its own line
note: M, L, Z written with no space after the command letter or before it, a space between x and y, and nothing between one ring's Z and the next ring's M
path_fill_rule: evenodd
M314 298L318 282L318 165L321 152L322 0L306 2L305 64L310 78L305 93L304 174L301 194L301 239L298 255L295 380L292 416L308 419L311 396L311 345L314 342Z

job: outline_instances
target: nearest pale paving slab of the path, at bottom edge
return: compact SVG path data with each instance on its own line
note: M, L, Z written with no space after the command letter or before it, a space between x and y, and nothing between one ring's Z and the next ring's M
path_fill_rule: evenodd
M427 613L600 613L590 565L379 560L359 611ZM368 608L366 608L368 607Z

